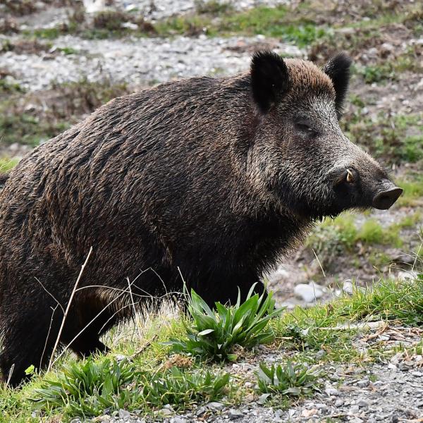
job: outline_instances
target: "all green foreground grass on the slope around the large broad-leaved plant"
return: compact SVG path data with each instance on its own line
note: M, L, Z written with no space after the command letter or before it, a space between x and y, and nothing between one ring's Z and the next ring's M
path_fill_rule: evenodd
M197 312L205 312L197 305ZM238 310L242 307L240 304ZM354 340L362 330L348 324L380 319L400 326L423 326L423 276L407 282L381 281L372 289L356 289L352 296L328 305L296 307L271 319L269 326L276 338L267 348L276 353L283 346L286 360L275 365L263 362L257 369L258 391L250 393L262 401L270 394L269 403L292 407L290 398L312 395L319 388L325 376L318 369L324 362L365 365L402 351L398 345L388 350L380 345L367 350L356 346ZM168 356L164 343L169 338L183 338L188 324L194 329L197 323L170 316L153 319L145 331L149 346L142 353L133 354L140 343L146 343L140 339L123 339L115 345L114 350L126 357L133 355L132 360L117 361L111 354L75 361L67 355L49 374L35 374L21 391L0 386L0 422L37 422L40 416L46 421L59 418L67 422L75 416L102 415L105 408L110 413L124 408L137 410L141 416L157 415L166 404L183 412L212 400L228 405L242 401L246 391L243 374L231 378L225 364L192 360L187 366L183 356ZM111 341L121 336L121 331L112 332ZM417 351L422 347L410 348Z

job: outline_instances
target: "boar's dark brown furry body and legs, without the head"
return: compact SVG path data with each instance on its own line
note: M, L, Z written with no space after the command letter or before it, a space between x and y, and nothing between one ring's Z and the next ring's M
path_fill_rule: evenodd
M275 212L243 172L255 118L246 78L198 78L114 99L13 170L0 193L0 324L6 340L18 333L37 357L23 367L39 365L51 295L66 307L91 246L80 286L97 288L78 291L63 343L111 305L73 341L82 354L132 311L111 319L128 305L118 298L126 278L137 278L137 301L180 292L179 268L208 302L226 302L300 233L304 223ZM49 344L62 317L57 309ZM9 345L3 369L20 362Z

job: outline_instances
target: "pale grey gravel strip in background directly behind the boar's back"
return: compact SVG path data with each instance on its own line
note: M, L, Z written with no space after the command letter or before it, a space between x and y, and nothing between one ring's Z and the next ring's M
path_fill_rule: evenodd
M86 40L67 35L56 39L54 46L72 47L78 54L0 55L0 68L13 73L26 90L50 87L51 82L109 79L143 86L153 82L196 75L233 75L250 66L251 51L272 48L290 56L302 56L298 47L275 39L257 37L207 38L200 36ZM53 50L54 51L54 48Z

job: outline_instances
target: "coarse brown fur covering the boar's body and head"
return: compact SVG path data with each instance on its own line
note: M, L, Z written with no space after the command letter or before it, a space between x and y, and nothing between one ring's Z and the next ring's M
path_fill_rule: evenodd
M132 316L128 283L141 309L180 292L181 275L210 305L233 301L314 219L369 207L386 174L341 133L336 78L257 54L251 75L114 99L20 161L0 191L4 377L19 384L48 362L90 247L61 336L80 355ZM304 113L324 128L314 141ZM337 193L328 175L347 165L360 186Z

